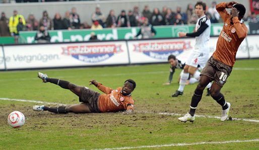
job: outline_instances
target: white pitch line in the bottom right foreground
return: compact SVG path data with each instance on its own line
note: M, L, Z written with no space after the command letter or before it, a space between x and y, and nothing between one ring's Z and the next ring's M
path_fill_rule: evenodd
M229 141L221 141L221 142L197 142L197 143L172 143L172 144L164 144L164 145L146 145L146 146L132 146L132 147L116 147L116 148L103 148L103 149L92 149L92 150L113 150L113 149L137 149L137 148L153 148L153 147L169 147L169 146L188 146L188 145L201 145L201 144L225 144L225 143L239 143L239 142L257 142L256 139L249 140L229 140Z

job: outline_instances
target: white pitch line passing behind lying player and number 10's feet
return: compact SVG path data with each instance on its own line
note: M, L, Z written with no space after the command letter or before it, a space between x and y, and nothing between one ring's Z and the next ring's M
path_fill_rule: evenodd
M19 101L19 102L31 102L31 103L40 103L40 104L49 104L49 105L67 105L67 104L59 104L59 103L49 103L49 102L42 102L42 101L36 101L36 100L26 100L26 99L14 99L14 98L2 98L0 97L0 100L6 100L6 101ZM159 114L159 115L168 115L168 116L182 116L182 114L177 113L153 113L153 112L143 112L143 111L137 111L136 113L144 113L144 114ZM205 115L196 115L196 117L205 117L205 118L217 118L220 119L220 117L217 116L205 116ZM249 122L259 122L259 120L252 120L252 119L239 119L239 118L232 118L232 120L242 120L242 121L249 121Z

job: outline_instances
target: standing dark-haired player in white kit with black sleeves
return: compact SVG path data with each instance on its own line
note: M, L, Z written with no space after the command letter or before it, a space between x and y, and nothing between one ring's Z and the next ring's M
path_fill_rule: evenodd
M191 74L193 78L199 80L201 72L198 70L198 66L203 69L207 61L209 60L210 48L208 46L208 42L211 33L211 21L210 19L206 18L205 11L206 4L203 2L197 2L195 5L195 12L199 19L196 23L195 32L179 32L180 37L196 37L196 43L195 49L193 49L193 51L190 53L189 58L183 68L183 73L180 77L179 88L175 91L175 93L172 94L172 97L177 97L178 95L183 94L183 89L189 77L189 74ZM209 83L207 86L208 91L210 87L211 83Z

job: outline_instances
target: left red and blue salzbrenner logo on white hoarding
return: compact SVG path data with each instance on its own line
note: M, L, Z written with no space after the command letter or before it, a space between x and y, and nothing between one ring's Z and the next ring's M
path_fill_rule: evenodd
M121 44L71 45L61 48L63 50L61 55L71 56L85 63L102 62L123 52Z

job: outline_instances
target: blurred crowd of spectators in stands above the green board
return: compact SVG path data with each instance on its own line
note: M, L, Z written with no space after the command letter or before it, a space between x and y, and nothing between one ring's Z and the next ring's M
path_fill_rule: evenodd
M216 11L216 2L212 2L210 8L207 7L206 15L212 23L223 22ZM14 10L13 16L10 18L5 15L5 12L2 12L0 36L19 35L19 31L38 30L40 26L44 26L46 31L135 27L143 25L147 19L152 26L195 24L198 17L195 14L193 5L189 4L186 12L182 12L181 7L177 7L176 10L172 10L169 7L163 7L161 10L154 8L152 12L149 6L146 5L142 11L140 11L138 6L135 6L133 10L128 12L122 10L118 16L115 16L114 10L110 10L109 14L105 15L99 7L96 7L95 12L91 15L91 19L91 23L81 22L76 8L72 8L71 12L67 11L63 17L59 13L55 13L53 18L51 18L48 12L44 11L42 18L35 18L33 14L30 14L26 20L17 10ZM245 21L259 22L259 16L256 16L254 12L249 12Z

